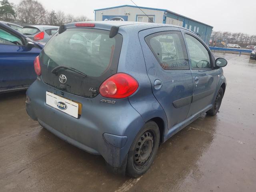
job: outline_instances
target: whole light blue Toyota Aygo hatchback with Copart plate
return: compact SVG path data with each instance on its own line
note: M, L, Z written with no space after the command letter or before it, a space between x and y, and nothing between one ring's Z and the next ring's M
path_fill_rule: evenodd
M65 24L36 57L26 110L66 142L102 155L110 170L137 177L160 143L218 112L226 64L179 26Z

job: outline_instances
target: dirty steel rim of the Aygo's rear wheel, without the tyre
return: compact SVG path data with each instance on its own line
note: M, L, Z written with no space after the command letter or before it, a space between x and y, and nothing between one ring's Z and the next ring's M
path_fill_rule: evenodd
M133 154L134 166L137 169L142 168L148 163L150 156L152 154L154 146L154 137L150 131L144 132L140 139L136 143L136 147Z

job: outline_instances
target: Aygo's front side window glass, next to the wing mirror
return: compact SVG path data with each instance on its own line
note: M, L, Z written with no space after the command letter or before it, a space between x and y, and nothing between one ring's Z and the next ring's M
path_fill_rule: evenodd
M210 56L208 50L193 36L186 34L185 37L192 68L210 68Z

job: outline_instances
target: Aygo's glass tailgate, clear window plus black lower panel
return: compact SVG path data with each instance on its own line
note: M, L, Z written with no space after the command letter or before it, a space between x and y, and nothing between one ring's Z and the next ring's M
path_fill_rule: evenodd
M110 38L109 33L100 29L68 28L61 34L54 34L40 53L44 82L80 96L96 96L100 84L117 72L122 35ZM52 70L58 66L62 68L53 74ZM61 74L67 78L65 88L60 85Z

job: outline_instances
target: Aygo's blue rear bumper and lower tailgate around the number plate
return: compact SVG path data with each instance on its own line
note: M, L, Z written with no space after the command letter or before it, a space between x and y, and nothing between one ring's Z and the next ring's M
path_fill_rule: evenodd
M121 105L102 103L99 106L100 95L87 99L65 93L65 97L82 103L82 115L74 118L48 106L46 91L58 95L61 92L38 80L27 90L30 99L26 101L26 111L33 120L66 142L102 155L115 168L124 164L134 137L145 123L128 99L116 102L123 102Z

